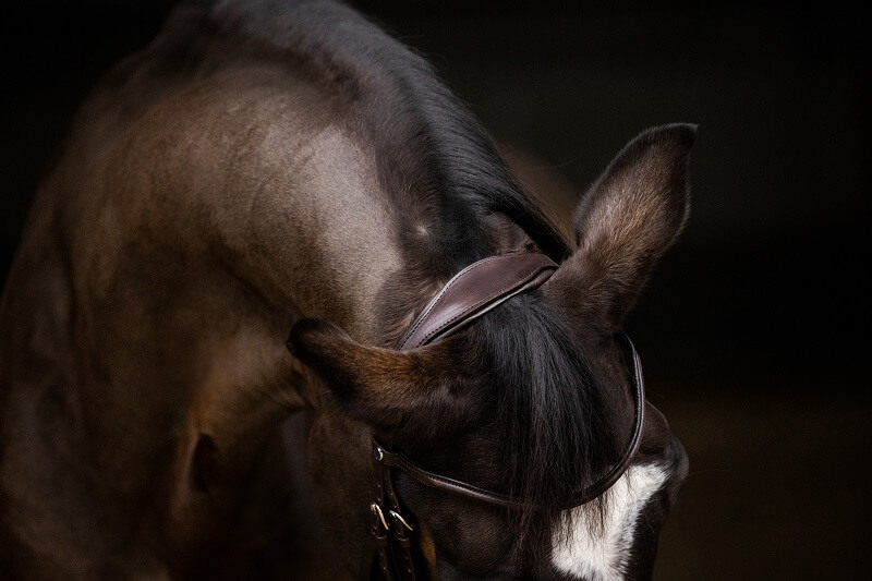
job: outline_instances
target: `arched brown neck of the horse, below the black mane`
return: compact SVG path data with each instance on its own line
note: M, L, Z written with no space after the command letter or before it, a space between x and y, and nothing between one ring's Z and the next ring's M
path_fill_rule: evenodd
M415 182L397 190L392 180L417 170L407 165L409 173L386 174L397 148L374 155L375 140L385 135L376 125L375 133L361 131L348 101L311 73L241 58L168 81L158 60L146 51L129 62L84 108L74 146L40 193L16 258L22 266L9 280L19 296L7 298L0 316L21 338L5 353L31 349L25 343L43 332L41 319L59 322L52 340L64 356L52 361L57 373L49 375L65 383L47 375L44 387L71 394L64 398L76 409L64 429L75 437L59 439L82 443L68 460L94 470L93 501L118 516L106 523L106 535L129 529L130 511L158 510L112 507L117 498L161 497L156 475L187 482L198 434L210 435L230 464L244 465L277 419L313 403L305 372L283 347L294 320L325 317L358 340L385 341L388 315L401 327L446 277L501 246L488 238L481 207L476 214L469 196L451 197L452 180L425 172L420 183L429 189ZM443 184L448 192L439 191ZM398 207L410 211L400 215ZM433 222L410 219L432 215L448 216L435 242ZM470 215L472 221L461 219ZM468 225L473 244L451 244L451 232ZM420 245L398 234L410 227ZM48 240L60 240L51 247L51 271L28 271L24 266L40 263ZM410 271L420 275L413 285ZM61 314L51 313L60 303L45 292L23 296L52 286L64 289L64 299L69 290ZM405 294L395 298L392 286ZM3 377L5 385L24 385L27 370L15 373ZM35 408L24 399L21 406ZM347 444L348 433L336 425L324 431L332 428L335 444ZM361 426L354 429L363 436ZM361 440L351 449L364 447ZM33 460L17 458L5 468L23 474ZM366 467L352 462L348 470L359 476ZM49 503L51 491L37 491L34 479L21 489ZM185 498L177 493L170 492L168 510L183 519ZM335 521L356 538L358 528Z

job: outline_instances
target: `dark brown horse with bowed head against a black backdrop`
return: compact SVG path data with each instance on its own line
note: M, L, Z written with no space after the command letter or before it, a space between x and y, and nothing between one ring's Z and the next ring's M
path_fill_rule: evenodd
M565 237L351 8L177 8L80 109L3 291L0 570L650 578L688 462L621 327L695 133L630 141ZM485 263L511 292L398 347Z

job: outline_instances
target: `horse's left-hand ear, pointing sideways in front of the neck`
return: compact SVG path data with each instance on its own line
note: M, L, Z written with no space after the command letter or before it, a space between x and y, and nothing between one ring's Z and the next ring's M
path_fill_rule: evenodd
M440 346L396 351L364 346L322 319L302 319L288 349L317 375L340 408L384 429L412 427L420 416L456 408L452 368Z

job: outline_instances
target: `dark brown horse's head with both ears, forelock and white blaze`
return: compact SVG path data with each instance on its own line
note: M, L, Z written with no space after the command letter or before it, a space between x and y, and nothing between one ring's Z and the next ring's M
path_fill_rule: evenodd
M561 507L628 445L631 375L615 335L683 225L694 135L671 125L628 145L583 198L577 250L552 279L457 336L398 352L356 343L325 322L293 329L295 354L344 413L427 470L537 507L495 507L397 473L434 578L651 576L659 526L687 473L656 409L645 403L642 443L623 476L593 503Z

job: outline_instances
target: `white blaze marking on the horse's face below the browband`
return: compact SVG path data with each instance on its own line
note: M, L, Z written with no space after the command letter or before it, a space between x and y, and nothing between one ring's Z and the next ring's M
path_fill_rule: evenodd
M659 464L631 467L609 489L603 528L596 534L592 533L597 528L591 525L590 507L573 508L572 530L554 535L554 566L590 581L623 579L639 513L668 475Z

